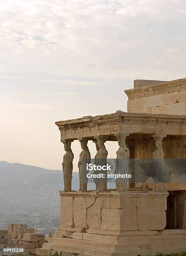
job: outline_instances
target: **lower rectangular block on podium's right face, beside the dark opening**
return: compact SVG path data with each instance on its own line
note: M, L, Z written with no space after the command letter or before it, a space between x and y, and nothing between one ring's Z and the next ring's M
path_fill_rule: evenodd
M164 230L166 227L165 210L137 211L138 230Z

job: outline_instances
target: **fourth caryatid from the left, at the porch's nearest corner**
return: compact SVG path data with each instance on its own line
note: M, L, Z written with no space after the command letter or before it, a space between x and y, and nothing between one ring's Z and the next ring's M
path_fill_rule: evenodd
M126 147L126 136L116 136L118 140L119 149L117 150L116 167L114 174L129 174L129 149ZM118 191L124 191L128 189L128 178L117 178L116 188Z

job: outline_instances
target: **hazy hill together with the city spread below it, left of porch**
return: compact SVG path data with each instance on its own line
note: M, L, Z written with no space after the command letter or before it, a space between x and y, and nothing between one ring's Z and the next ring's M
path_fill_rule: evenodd
M79 173L72 176L72 189L78 190ZM44 233L56 230L62 189L62 170L0 161L0 229L7 228L8 223L27 223L35 228L39 225Z

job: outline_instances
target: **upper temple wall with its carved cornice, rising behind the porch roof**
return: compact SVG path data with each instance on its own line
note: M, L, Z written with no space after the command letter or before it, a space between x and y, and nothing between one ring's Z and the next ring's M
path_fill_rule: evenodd
M186 113L186 79L126 90L128 112L184 115Z

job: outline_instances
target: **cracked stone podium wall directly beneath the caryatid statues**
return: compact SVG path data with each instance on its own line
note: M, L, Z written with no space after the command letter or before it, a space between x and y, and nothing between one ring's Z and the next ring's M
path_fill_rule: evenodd
M167 192L60 192L56 237L96 230L163 230Z

